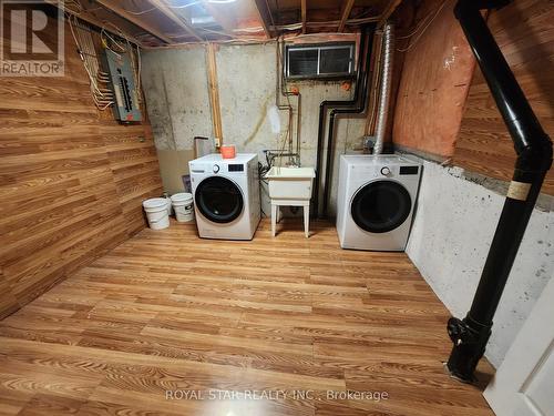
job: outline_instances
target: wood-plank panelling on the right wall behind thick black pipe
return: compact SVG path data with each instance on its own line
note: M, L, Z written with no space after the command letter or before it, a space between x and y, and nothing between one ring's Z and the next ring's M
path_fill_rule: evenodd
M554 3L520 0L491 12L489 27L541 120L554 138ZM471 83L454 163L501 180L512 177L515 152L506 126L478 69ZM554 194L551 170L543 192Z

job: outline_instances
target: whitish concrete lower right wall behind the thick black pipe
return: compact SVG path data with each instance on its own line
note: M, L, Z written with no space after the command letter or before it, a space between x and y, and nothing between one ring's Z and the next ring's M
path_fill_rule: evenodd
M490 182L490 181L489 181ZM489 186L491 187L491 186ZM502 187L502 186L501 186ZM475 293L505 193L474 183L460 168L423 161L407 253L450 312L463 317ZM497 367L554 274L552 197L533 211L495 315L486 357Z

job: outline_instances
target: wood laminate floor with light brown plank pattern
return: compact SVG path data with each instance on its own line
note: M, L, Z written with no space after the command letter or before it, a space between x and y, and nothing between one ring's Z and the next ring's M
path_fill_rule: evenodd
M492 415L406 254L279 230L144 230L0 322L0 415Z

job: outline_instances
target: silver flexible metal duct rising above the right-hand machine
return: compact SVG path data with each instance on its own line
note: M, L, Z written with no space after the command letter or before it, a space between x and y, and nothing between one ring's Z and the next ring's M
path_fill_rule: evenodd
M392 23L387 23L384 27L382 42L381 99L379 100L379 113L377 116L375 154L382 153L384 134L387 133L387 121L389 119L392 62L394 57L394 26Z

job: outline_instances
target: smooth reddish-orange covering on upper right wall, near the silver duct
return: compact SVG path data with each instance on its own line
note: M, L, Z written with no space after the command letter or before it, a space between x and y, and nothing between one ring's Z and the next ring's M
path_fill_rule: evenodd
M398 32L397 48L403 54L403 69L397 94L392 140L404 149L442 159L454 153L463 104L475 64L453 14L455 2L448 0L421 37L416 33L406 39L425 17L433 16L442 3L442 0L424 1L411 27ZM404 2L399 10L401 20L402 14L409 13L409 3Z

